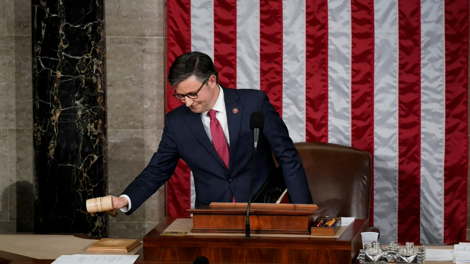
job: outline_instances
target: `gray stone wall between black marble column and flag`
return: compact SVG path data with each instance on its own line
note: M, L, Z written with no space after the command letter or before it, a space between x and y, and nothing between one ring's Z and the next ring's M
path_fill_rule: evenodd
M164 126L164 0L106 0L108 188L120 195L157 151ZM164 187L131 216L110 218L113 238L142 238L165 215Z

